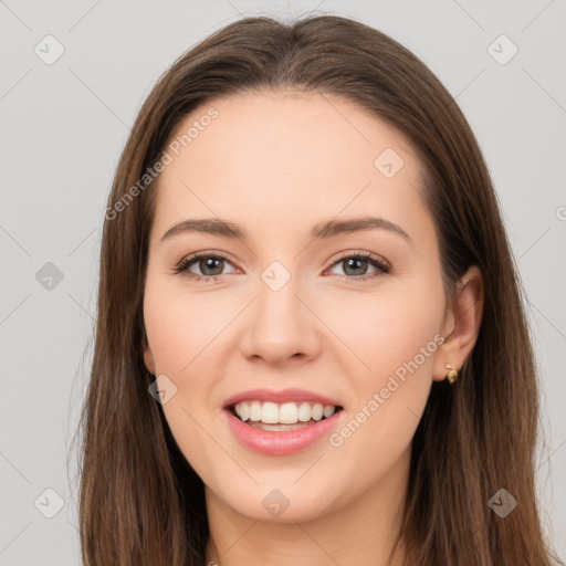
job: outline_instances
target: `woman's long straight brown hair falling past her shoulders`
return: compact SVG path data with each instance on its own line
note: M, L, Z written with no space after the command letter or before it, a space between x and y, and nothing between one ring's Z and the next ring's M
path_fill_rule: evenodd
M470 265L483 274L478 342L454 386L433 384L413 438L397 541L406 563L553 564L534 484L536 367L481 150L452 96L418 57L379 31L335 15L231 23L180 56L138 113L107 203L94 359L80 423L84 564L205 564L203 484L148 394L155 376L142 355L156 192L144 176L197 105L265 88L346 97L395 126L423 166L419 189L434 221L447 297L454 297ZM500 489L518 502L505 518L488 504Z

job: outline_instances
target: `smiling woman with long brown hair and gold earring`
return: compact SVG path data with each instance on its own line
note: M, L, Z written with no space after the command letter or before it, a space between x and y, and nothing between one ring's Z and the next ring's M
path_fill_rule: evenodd
M483 157L413 54L248 18L182 55L106 209L85 565L531 565L537 389Z

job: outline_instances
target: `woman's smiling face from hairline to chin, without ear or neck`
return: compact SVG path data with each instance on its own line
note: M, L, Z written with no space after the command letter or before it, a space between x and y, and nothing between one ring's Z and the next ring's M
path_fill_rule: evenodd
M389 490L441 377L444 319L409 144L314 93L208 102L170 142L145 361L174 391L163 410L207 496L259 521L289 503L281 521L305 521ZM363 217L381 221L321 228ZM199 219L241 233L179 224Z

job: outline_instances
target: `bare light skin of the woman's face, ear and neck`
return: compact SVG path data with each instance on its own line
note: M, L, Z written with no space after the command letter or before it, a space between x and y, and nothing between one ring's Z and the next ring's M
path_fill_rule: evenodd
M196 108L174 137L210 106L218 117L159 178L144 300L146 366L176 385L163 409L206 484L207 564L385 565L432 381L447 363L460 368L478 337L481 273L470 269L444 311L434 226L416 189L420 163L381 119L335 96L247 93ZM392 178L374 166L386 148L405 161ZM385 229L310 237L317 222L365 214L399 224L411 242ZM187 218L238 223L248 240L187 232L160 241ZM174 273L200 251L231 258L218 281ZM348 271L345 260L364 251L390 272L364 262ZM273 261L291 274L276 292L261 279ZM214 265L197 261L190 272ZM263 455L222 418L239 391L298 387L339 399L342 427L436 335L449 339L339 447L324 438ZM262 505L273 489L290 502L279 517Z

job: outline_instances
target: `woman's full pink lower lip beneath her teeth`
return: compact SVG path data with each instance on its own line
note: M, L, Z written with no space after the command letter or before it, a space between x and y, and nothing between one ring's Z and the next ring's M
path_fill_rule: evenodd
M336 427L344 410L335 412L327 419L319 420L295 430L262 430L245 424L229 410L224 410L228 423L238 440L250 450L268 455L287 455L311 447Z

